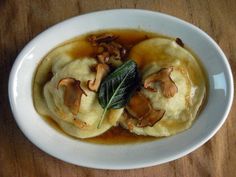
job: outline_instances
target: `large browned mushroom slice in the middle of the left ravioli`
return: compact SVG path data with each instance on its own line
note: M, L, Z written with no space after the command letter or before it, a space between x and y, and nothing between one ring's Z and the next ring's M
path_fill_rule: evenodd
M61 86L65 87L64 104L70 109L73 115L78 114L81 97L83 94L87 96L84 90L80 87L80 81L67 77L58 82L57 89Z

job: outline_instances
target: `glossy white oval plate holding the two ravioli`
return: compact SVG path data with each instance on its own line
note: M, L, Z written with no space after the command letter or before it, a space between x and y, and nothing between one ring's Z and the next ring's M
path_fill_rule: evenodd
M42 57L56 45L101 29L140 28L180 37L200 57L208 78L208 102L192 128L161 140L98 145L59 134L35 111L32 81ZM233 78L219 46L199 28L169 15L144 10L108 10L77 16L42 32L16 58L9 79L9 99L25 136L48 154L66 162L101 169L131 169L180 158L209 140L227 118L233 100Z

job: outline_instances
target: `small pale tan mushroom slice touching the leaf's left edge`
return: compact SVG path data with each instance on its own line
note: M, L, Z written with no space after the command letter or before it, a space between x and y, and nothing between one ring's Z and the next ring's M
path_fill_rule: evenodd
M97 64L96 66L96 77L95 80L88 80L87 82L87 86L88 89L94 92L98 91L98 88L101 84L102 79L108 74L108 72L110 71L109 66L107 64Z

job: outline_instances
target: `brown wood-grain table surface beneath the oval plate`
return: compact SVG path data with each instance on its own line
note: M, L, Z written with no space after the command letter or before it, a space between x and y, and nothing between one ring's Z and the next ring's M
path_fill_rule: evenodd
M200 27L223 49L236 78L235 0L1 0L0 177L236 176L236 102L226 123L204 146L179 160L137 170L96 170L62 162L39 150L19 130L9 107L7 83L20 50L35 35L57 22L114 8L164 12Z

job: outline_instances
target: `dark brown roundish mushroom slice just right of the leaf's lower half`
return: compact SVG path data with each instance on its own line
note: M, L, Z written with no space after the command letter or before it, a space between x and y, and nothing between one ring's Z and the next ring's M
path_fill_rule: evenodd
M138 120L143 119L149 114L151 109L149 100L140 92L133 95L126 106L128 113Z

